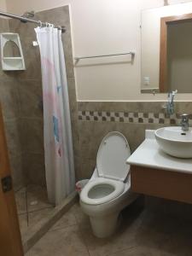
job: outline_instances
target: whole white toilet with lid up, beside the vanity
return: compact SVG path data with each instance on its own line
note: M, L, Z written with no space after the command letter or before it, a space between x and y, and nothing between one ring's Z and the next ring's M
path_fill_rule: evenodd
M96 156L96 168L80 193L80 206L90 217L95 236L111 236L118 224L120 212L137 199L131 193L129 143L118 131L109 132L102 139Z

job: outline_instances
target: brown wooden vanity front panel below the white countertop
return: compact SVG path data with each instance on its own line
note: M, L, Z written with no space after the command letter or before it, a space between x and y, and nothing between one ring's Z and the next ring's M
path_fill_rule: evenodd
M131 166L131 191L192 204L192 174Z

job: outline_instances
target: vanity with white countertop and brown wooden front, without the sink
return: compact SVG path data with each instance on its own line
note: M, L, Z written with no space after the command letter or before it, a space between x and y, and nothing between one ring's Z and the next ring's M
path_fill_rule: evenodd
M161 151L154 131L146 131L146 139L127 163L131 165L132 192L192 204L192 159Z

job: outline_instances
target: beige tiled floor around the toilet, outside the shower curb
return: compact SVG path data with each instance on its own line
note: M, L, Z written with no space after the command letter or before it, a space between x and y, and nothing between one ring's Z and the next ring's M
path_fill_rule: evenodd
M89 218L75 204L27 256L191 256L192 222L131 205L119 230L106 239L93 236ZM74 218L75 217L75 218ZM75 224L77 223L77 224Z

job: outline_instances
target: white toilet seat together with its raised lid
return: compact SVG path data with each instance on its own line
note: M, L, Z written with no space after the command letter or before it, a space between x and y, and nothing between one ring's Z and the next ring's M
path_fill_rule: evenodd
M130 171L130 166L126 165L130 155L130 147L123 134L119 131L109 132L102 139L96 155L98 177L84 186L81 201L88 205L100 205L121 195Z

